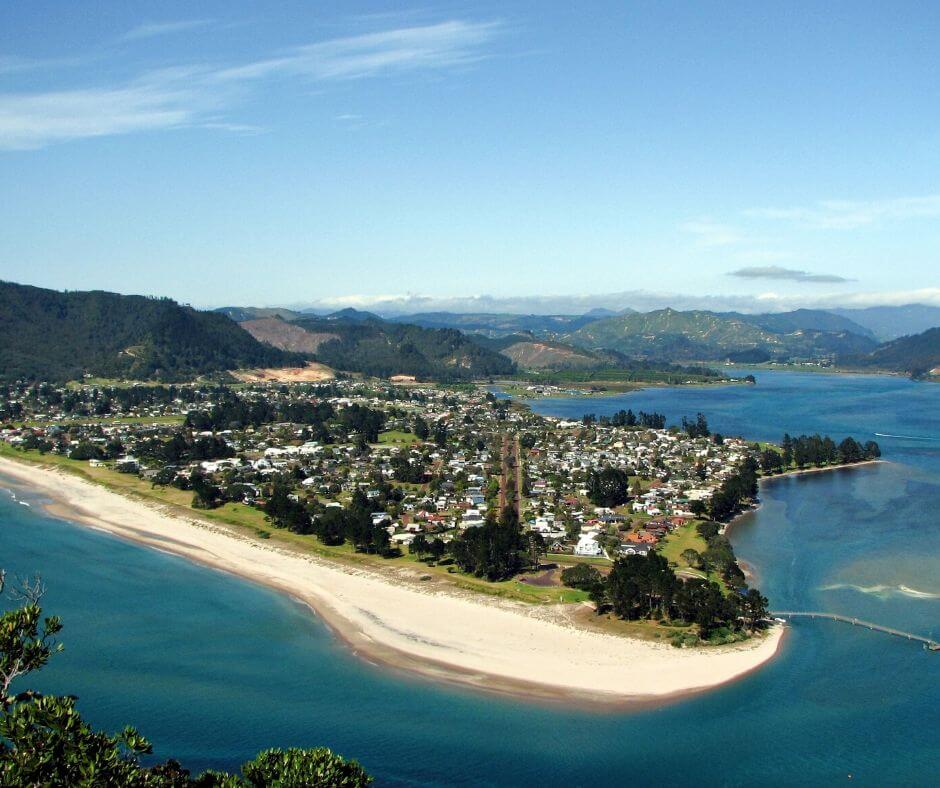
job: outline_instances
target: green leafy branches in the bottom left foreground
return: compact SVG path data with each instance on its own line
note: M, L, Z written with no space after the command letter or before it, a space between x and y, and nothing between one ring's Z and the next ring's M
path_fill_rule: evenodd
M0 592L4 575L0 572ZM155 786L157 788L242 788L322 786L358 788L372 778L355 761L330 750L265 750L245 763L241 775L208 771L196 777L169 760L152 767L139 758L153 752L134 728L118 734L95 731L75 707L73 696L44 696L31 690L11 694L13 682L42 668L61 645L58 618L42 615L37 581L17 591L22 604L0 614L0 785Z

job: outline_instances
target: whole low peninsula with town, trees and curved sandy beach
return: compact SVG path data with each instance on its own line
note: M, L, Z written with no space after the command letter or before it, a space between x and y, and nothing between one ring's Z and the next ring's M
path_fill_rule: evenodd
M769 659L781 629L722 524L762 473L878 452L377 379L3 394L0 469L53 513L290 594L367 659L584 702Z

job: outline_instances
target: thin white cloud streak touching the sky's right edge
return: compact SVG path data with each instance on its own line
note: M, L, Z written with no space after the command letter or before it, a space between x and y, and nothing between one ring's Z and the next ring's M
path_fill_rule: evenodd
M746 214L818 230L855 230L889 221L940 216L940 194L887 200L822 200L809 207L759 208Z

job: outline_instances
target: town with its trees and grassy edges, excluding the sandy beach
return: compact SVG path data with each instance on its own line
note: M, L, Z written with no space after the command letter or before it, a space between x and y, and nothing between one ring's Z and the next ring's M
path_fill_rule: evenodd
M484 385L21 383L2 393L7 457L133 482L137 495L259 539L290 534L339 560L403 559L488 593L696 621L691 640L667 630L674 645L747 637L765 614L723 536L754 505L759 475L877 454L819 436L748 443L712 432L703 414L678 425L631 410L545 417ZM625 602L618 567L662 575L658 606Z

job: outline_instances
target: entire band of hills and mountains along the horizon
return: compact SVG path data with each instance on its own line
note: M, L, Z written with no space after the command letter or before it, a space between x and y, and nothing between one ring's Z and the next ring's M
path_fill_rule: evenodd
M876 337L892 325L934 320L940 326L940 309L922 305L764 315L438 312L387 320L354 309L327 315L254 307L202 312L170 299L0 282L0 379L185 380L306 361L380 377L454 381L517 370L796 360L922 376L940 367L940 328L880 345Z

